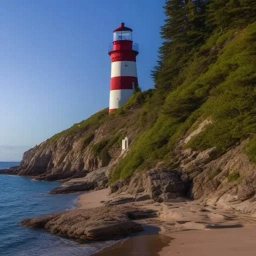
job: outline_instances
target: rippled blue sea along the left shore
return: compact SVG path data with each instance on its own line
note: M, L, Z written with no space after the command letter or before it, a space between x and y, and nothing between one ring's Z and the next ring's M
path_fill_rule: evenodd
M0 162L0 169L18 164ZM75 207L78 193L48 193L59 184L0 174L0 256L86 256L115 242L80 244L43 230L18 225L24 218Z

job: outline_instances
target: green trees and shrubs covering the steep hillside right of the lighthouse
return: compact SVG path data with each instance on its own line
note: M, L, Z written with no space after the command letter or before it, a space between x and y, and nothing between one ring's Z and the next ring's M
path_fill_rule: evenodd
M214 146L219 156L249 138L245 152L256 162L256 1L166 0L164 10L163 43L152 70L155 88L137 89L114 113L108 115L104 109L49 139L54 143L65 134L92 134L101 124L110 125L92 146L105 166L111 147L120 146L127 127L135 130L110 182L159 162L178 167L177 142L205 119L212 123L185 147L202 151ZM86 135L84 143L90 139ZM229 182L238 178L238 172L227 177Z

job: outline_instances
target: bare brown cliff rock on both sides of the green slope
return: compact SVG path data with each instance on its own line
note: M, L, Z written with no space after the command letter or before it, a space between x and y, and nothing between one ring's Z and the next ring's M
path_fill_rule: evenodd
M128 136L132 146L139 134L139 127L134 129L138 112L139 108L130 109L124 116L105 115L96 126L57 134L26 151L20 166L5 172L65 181L51 193L106 188L111 170L129 151L121 152L121 139ZM244 153L248 139L221 156L214 147L203 151L186 148L186 143L209 123L203 120L179 140L168 167L159 161L153 169L110 184L110 191L144 192L159 202L188 196L206 204L256 212L256 167Z

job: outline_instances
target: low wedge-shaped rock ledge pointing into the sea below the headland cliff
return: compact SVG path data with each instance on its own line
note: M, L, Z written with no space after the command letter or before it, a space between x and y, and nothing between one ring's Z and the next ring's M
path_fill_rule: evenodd
M103 189L108 185L106 168L99 168L86 174L84 178L71 179L52 189L49 193L71 193L91 189Z

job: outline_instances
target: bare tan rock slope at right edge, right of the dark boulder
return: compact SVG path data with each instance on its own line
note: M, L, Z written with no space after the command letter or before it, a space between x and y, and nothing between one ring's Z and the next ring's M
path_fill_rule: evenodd
M248 140L244 140L204 165L203 171L193 178L190 196L200 198L207 204L221 204L226 208L230 208L235 200L238 203L253 197L256 192L256 174L255 165L250 163L244 153L247 142ZM228 182L227 176L233 171L238 171L240 177Z

